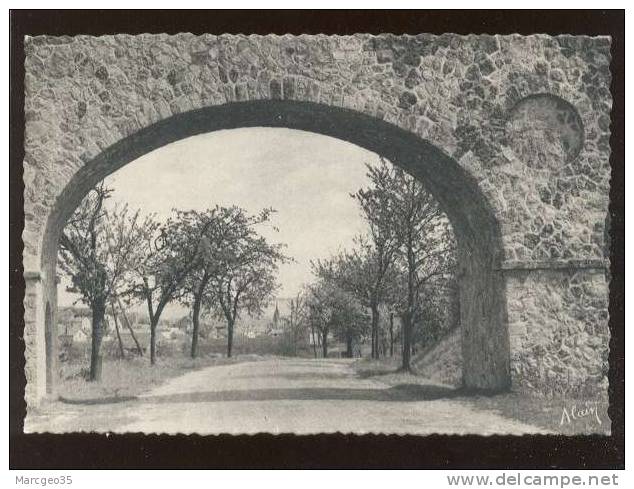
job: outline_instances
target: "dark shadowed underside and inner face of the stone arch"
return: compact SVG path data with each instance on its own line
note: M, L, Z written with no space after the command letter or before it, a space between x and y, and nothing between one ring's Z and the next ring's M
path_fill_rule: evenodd
M282 100L211 106L164 119L105 149L74 174L48 217L41 257L45 289L55 287L58 240L64 225L96 183L172 142L244 127L331 136L384 156L421 180L449 217L458 243L464 386L482 390L510 386L505 289L498 272L504 258L502 240L495 213L477 182L430 142L381 119L339 107ZM47 351L51 360L54 356L54 351Z

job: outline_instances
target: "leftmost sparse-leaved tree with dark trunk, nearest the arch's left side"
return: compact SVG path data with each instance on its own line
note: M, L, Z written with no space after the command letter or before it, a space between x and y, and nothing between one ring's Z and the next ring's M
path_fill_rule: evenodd
M90 380L101 378L101 342L106 306L141 258L143 242L154 229L127 206L108 209L112 190L99 184L81 202L60 237L59 263L71 277L71 291L92 311Z

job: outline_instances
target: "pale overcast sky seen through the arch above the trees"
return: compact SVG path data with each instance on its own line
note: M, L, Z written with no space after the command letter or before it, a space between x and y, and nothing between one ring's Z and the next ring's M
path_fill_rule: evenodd
M349 247L365 224L349 196L368 184L364 163L375 153L344 141L291 129L245 128L183 139L126 165L106 179L112 202L167 217L171 209L236 204L251 213L273 207L279 232L296 263L280 268L280 297L311 280L309 261ZM59 288L60 304L73 297Z

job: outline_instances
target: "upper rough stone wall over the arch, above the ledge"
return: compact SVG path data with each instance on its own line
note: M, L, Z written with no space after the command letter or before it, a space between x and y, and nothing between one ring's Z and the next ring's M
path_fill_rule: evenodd
M28 38L25 270L41 269L51 207L101 151L174 114L262 99L344 107L429 140L478 182L500 224L505 259L519 268L602 259L609 48L608 38L545 35ZM517 130L514 109L535 94L552 94L574 108L582 124L578 155L569 157L568 142L579 135L567 129L556 137L548 125ZM535 284L554 280L562 297L568 290L559 271L524 272L526 280L500 273L509 275L512 324L524 297L538 294L545 304L557 289ZM597 288L596 297L607 300L605 285ZM536 344L542 329L560 327L555 314L540 316L542 302L531 321L543 328L528 328L515 348ZM561 311L576 314L565 300ZM512 352L514 372L526 371L525 358ZM540 385L547 382L541 377Z

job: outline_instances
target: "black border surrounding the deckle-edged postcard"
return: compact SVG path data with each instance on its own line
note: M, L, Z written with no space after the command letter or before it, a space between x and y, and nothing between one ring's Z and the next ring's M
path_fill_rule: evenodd
M28 11L10 13L10 467L106 468L623 468L625 323L624 11ZM612 36L610 410L604 436L24 434L22 278L24 35L588 34Z

